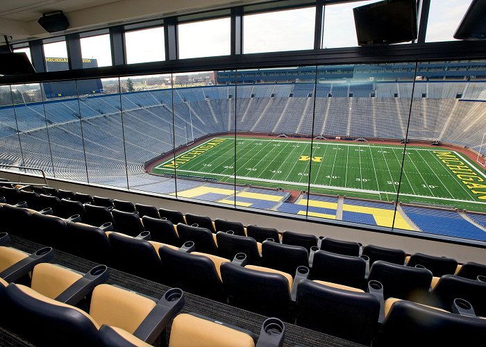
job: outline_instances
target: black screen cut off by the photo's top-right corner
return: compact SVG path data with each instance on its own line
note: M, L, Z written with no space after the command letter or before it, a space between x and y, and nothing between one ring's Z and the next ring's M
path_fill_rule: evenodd
M474 0L469 6L458 30L454 34L457 40L486 39L486 0Z

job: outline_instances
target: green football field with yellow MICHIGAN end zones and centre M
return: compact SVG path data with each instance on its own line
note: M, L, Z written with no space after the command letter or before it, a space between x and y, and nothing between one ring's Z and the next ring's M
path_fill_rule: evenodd
M153 167L153 174L212 178L260 187L308 190L381 201L396 200L403 146L296 139L214 137ZM311 157L312 155L312 157ZM449 166L448 166L449 165ZM401 202L486 210L486 175L462 153L409 146L400 187ZM485 183L484 187L483 184Z

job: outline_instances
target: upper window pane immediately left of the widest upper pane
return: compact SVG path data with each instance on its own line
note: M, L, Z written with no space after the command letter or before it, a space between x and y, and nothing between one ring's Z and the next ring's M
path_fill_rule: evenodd
M228 56L231 19L221 18L178 25L179 58Z

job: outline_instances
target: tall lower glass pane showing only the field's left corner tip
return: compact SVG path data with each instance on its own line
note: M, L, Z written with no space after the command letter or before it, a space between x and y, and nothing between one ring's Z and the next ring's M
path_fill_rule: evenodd
M175 194L171 75L120 78L128 187Z

